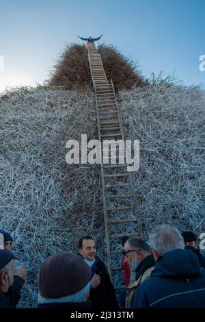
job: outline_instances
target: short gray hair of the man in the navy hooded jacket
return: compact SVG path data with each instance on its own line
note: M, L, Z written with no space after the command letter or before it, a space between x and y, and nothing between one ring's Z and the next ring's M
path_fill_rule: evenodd
M152 249L156 249L159 256L164 256L168 251L184 249L184 240L176 227L171 225L156 226L149 236Z

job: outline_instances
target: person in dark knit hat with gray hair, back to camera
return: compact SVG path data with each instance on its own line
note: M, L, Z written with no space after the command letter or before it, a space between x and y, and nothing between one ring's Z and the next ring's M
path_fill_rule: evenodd
M92 308L87 298L92 269L73 253L56 253L42 263L38 275L38 308Z

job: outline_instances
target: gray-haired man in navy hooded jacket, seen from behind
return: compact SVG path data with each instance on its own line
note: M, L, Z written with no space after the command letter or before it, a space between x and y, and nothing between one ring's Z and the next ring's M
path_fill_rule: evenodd
M156 264L137 288L133 308L205 308L205 270L192 251L184 250L180 232L159 225L150 244Z

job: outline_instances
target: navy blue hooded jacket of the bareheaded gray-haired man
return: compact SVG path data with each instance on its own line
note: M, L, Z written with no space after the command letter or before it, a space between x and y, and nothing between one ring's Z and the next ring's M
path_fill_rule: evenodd
M205 308L205 270L197 256L185 249L166 253L137 288L133 308Z

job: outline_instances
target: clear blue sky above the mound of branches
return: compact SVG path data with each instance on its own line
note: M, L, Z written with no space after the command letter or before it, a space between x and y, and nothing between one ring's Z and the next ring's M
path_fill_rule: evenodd
M77 34L104 34L145 76L205 83L205 0L0 0L0 90L42 82Z

